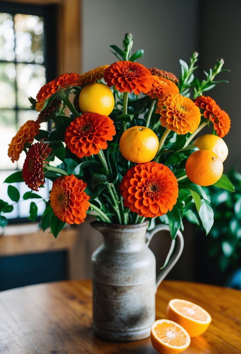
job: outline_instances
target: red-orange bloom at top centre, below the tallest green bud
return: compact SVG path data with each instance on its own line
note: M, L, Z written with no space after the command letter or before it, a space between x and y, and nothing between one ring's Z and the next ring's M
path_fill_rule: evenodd
M152 74L142 64L119 61L105 69L104 79L108 86L116 85L120 92L147 93L152 86Z

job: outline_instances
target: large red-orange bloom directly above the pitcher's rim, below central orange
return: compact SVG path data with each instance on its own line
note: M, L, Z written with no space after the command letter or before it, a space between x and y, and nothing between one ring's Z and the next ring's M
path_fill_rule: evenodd
M120 183L124 206L140 216L161 216L177 202L178 183L163 164L144 162L127 171Z

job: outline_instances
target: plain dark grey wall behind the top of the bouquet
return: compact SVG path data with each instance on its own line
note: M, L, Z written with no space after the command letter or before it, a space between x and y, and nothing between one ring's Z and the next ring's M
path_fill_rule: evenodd
M201 69L224 58L231 73L219 77L230 83L219 84L206 95L231 118L231 130L224 137L229 147L224 171L235 166L241 172L240 19L240 0L82 0L82 72L113 63L109 45L121 47L126 32L134 36L134 51L145 50L143 65L177 76L178 59L189 61L194 50L200 53Z

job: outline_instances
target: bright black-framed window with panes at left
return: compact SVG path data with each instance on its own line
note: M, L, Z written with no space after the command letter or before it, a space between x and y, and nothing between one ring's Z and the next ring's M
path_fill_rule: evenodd
M38 112L31 109L28 97L36 97L39 89L57 76L56 73L56 6L35 6L0 2L0 185L1 198L8 200L7 176L22 169L24 152L17 162L7 156L8 144L19 127L36 120ZM44 123L43 123L44 124ZM45 129L41 125L41 129ZM29 190L23 183L15 184L22 196ZM48 195L48 185L42 188ZM22 201L7 215L25 218L30 200ZM42 205L43 207L43 205ZM38 210L41 215L41 204Z

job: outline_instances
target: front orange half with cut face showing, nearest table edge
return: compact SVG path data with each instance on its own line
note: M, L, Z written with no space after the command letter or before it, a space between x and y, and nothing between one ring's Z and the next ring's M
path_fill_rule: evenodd
M157 320L151 328L151 342L155 350L161 354L177 354L190 345L188 332L176 322Z

